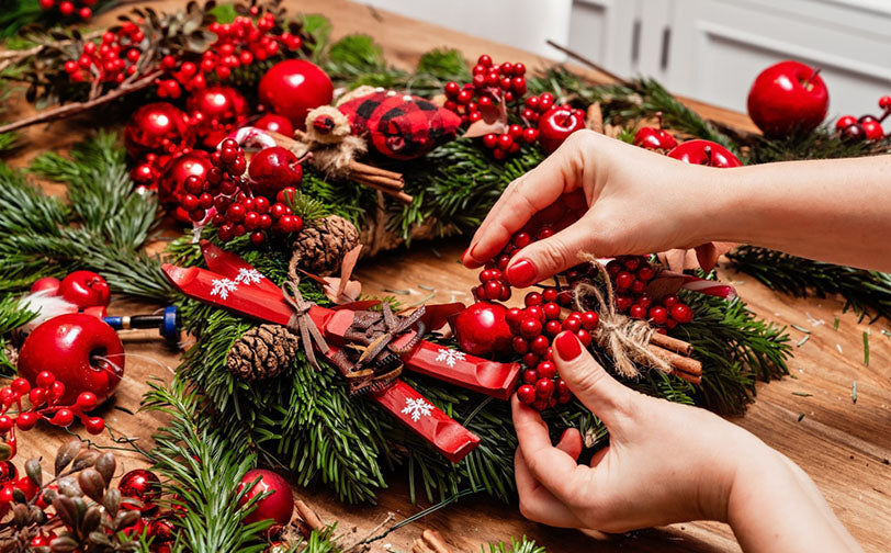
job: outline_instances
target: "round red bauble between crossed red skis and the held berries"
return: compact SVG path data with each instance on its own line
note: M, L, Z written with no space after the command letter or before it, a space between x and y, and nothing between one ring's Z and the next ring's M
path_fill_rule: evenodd
M458 314L453 330L458 346L472 356L500 357L512 351L514 335L507 324L507 308L477 302Z

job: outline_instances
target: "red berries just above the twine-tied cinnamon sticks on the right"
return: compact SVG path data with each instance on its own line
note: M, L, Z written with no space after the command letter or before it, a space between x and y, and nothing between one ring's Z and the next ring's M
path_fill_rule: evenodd
M616 289L616 308L631 318L647 319L657 331L665 334L677 325L693 319L693 311L669 294L655 300L646 293L656 269L643 256L623 256L607 263L607 273Z

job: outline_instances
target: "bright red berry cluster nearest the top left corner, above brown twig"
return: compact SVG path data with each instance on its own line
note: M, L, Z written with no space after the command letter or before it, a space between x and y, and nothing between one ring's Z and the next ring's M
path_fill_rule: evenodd
M105 32L99 45L84 43L80 57L65 63L65 71L71 82L98 80L120 84L137 71L144 40L145 34L136 24L124 23L117 32Z

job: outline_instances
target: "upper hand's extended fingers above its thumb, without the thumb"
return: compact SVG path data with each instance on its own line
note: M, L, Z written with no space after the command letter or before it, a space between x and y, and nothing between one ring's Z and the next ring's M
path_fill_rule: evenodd
M484 264L533 215L565 192L580 188L584 159L578 155L578 143L567 140L538 167L510 183L471 240L462 258L465 266L473 269Z

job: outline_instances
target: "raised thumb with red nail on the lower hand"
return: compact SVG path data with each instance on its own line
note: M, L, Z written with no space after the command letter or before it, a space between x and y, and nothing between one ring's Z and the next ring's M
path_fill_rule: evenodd
M573 332L561 332L554 339L554 363L573 394L610 431L613 430L610 427L631 409L636 393L610 376Z

